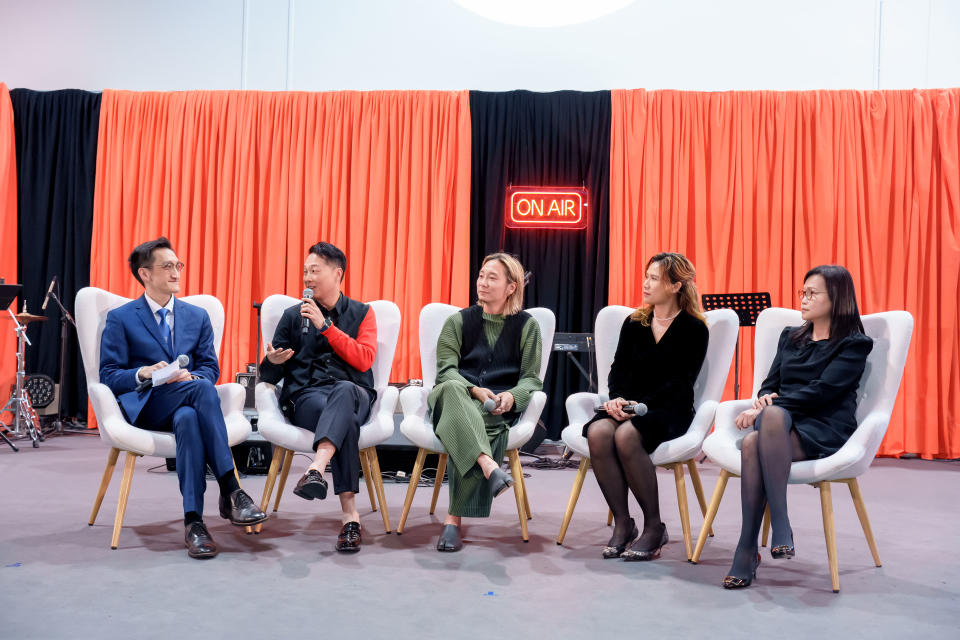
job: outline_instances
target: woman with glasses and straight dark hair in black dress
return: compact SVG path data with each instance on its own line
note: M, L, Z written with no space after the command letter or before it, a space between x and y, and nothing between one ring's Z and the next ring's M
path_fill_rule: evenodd
M753 408L737 427L753 429L741 449L743 524L727 589L750 585L760 555L757 535L770 505L770 555L792 558L787 516L790 464L836 453L857 428L857 387L873 349L863 333L850 273L837 265L815 267L803 279L803 325L780 334L777 355Z

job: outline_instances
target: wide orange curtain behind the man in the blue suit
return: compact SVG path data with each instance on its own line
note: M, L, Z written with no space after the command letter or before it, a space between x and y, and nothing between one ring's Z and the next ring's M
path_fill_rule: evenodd
M420 308L468 302L469 97L105 91L93 216L93 286L139 295L127 256L166 235L182 295L223 302L223 381L255 358L251 303L299 297L320 240L347 254L347 295L400 307L391 380L419 377Z

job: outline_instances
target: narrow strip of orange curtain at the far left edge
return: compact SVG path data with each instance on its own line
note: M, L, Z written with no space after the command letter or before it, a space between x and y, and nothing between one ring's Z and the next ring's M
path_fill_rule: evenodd
M13 137L13 104L0 82L0 278L17 282L17 154ZM10 305L14 312L15 303ZM0 403L6 404L15 382L17 341L6 309L0 309ZM2 406L2 405L0 405Z

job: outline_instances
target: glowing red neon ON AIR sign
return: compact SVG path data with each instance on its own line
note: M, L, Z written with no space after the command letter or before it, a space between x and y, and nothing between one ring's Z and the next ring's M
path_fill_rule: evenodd
M582 187L507 187L504 222L510 229L586 229Z

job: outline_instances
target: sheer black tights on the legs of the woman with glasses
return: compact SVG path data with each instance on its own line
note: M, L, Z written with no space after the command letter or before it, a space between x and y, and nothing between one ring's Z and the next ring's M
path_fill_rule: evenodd
M743 524L733 556L732 576L750 577L757 561L757 537L763 512L770 505L771 547L793 544L787 515L787 478L790 463L806 456L793 420L784 409L765 407L757 416L755 430L743 439L740 452L740 502Z

